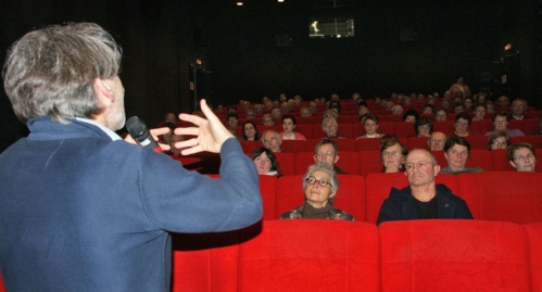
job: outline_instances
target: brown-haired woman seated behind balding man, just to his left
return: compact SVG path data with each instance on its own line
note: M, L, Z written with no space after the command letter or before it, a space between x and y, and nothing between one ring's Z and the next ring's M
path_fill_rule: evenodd
M406 147L399 141L395 135L385 135L380 140L380 160L382 173L404 172L404 162L407 154Z

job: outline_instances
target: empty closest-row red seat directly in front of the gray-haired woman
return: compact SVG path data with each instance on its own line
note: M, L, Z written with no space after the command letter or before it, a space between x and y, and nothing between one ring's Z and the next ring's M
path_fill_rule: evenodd
M265 221L262 232L239 247L238 291L377 292L377 240L371 224Z

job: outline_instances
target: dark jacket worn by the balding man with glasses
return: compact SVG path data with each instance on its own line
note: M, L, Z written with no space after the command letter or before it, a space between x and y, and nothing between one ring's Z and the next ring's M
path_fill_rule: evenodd
M439 218L472 219L467 203L444 185L437 185L437 214ZM390 198L383 201L378 214L377 225L391 220L417 219L416 199L411 187L398 190L391 189Z

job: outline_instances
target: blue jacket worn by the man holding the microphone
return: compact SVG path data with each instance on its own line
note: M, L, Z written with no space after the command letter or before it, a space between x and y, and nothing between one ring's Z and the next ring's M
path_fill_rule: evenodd
M169 291L168 231L262 217L254 163L236 139L220 179L99 127L49 117L0 154L0 268L8 291Z

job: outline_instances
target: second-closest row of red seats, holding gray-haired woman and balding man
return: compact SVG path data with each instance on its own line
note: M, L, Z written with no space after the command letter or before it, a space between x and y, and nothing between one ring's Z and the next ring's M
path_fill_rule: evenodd
M302 175L260 176L264 201L264 219L277 219L304 201ZM475 219L502 220L517 224L542 223L541 173L483 172L461 175L440 174L437 183L446 185L463 198ZM376 223L378 212L391 188L404 188L404 173L339 175L335 205L358 221Z

